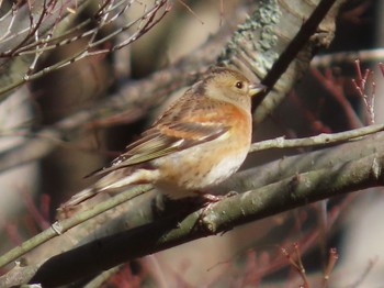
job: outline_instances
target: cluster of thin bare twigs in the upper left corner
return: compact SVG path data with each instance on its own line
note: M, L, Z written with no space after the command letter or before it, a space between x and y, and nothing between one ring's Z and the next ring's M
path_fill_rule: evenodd
M92 20L87 19L74 29L67 32L63 32L61 34L61 30L55 30L58 25L58 22L61 22L65 19L63 15L72 14L68 11L64 12L63 9L65 7L61 4L59 7L56 7L57 0L49 0L49 2L46 1L47 0L43 0L43 3L41 3L41 11L37 21L31 19L31 24L29 27L26 26L24 30L21 30L16 33L5 33L9 36L3 37L0 41L0 60L2 58L3 65L12 65L12 63L20 57L30 59L31 55L35 55L32 64L29 66L29 70L22 78L12 79L10 85L2 86L0 89L0 99L7 97L8 92L14 88L38 77L42 77L47 73L66 67L84 57L94 56L98 54L106 54L132 44L142 37L145 33L147 33L150 29L153 29L156 24L158 24L171 9L169 0L154 1L153 5L148 10L145 9L142 15L132 20L129 23L126 23L122 26L115 25L114 27L113 24L117 22L120 16L128 8L131 8L133 3L137 3L138 1L122 0L115 3L114 0L105 0L100 4L100 8L98 11L95 11ZM38 3L34 3L34 5L38 7ZM9 16L11 16L11 14ZM55 21L49 22L50 19L55 19ZM12 16L10 21L11 23L8 26L8 31L10 31L14 21L15 20ZM97 24L93 29L81 32L82 27L91 23ZM113 30L106 36L103 36L100 40L95 40L97 35L102 29L111 26ZM134 26L137 26L136 31L132 32L128 38L125 38L121 43L112 44L109 48L98 48L102 44L110 43L115 38L116 35L127 30L134 29ZM22 35L24 35L23 38L21 38ZM21 41L16 42L16 38L21 38ZM58 63L55 63L52 66L43 67L41 70L32 73L31 68L35 67L35 62L42 54L83 38L87 38L88 43L77 54ZM3 45L1 45L1 42ZM30 60L26 63L29 62Z

